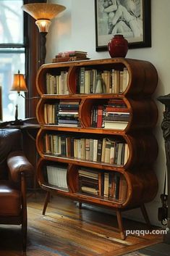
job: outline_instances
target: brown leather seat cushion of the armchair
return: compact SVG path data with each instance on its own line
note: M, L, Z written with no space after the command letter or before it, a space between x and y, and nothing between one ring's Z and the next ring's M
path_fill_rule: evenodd
M21 194L6 181L0 181L0 217L21 213Z

